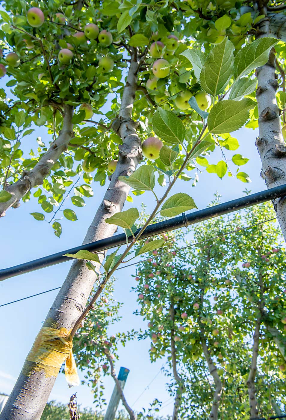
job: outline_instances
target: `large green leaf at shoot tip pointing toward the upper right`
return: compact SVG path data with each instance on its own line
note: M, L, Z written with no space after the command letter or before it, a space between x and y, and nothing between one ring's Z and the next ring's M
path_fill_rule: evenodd
M277 41L278 39L271 37L258 38L239 50L234 59L235 79L249 74L250 71L267 63L269 51Z

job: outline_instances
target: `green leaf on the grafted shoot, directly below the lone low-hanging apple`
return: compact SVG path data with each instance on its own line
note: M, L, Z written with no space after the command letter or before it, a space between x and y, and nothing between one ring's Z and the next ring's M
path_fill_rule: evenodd
M151 165L143 165L136 169L132 175L119 176L118 179L134 189L152 191L156 181L154 172Z

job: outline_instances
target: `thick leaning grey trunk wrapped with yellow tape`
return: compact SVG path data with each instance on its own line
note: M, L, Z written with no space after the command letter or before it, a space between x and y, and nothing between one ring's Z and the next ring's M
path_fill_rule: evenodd
M105 219L122 210L130 190L129 186L118 181L118 176L130 175L141 158L141 142L136 133L138 123L131 119L138 68L138 60L133 54L119 113L121 125L118 132L123 142L120 145L119 162L83 244L112 236L117 230L117 226L105 223ZM99 267L97 270L99 271ZM43 326L56 329L64 327L70 331L83 312L95 281L96 274L88 270L85 262L75 260ZM48 376L41 365L26 360L0 420L39 420L57 373Z

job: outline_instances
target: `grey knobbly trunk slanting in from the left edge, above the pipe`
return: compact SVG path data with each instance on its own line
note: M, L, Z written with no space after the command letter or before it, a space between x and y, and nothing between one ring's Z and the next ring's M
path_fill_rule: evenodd
M49 147L49 150L42 155L39 162L31 171L23 171L21 178L15 184L7 185L5 191L12 194L10 200L0 203L0 217L5 216L5 211L10 207L19 207L21 198L30 191L34 186L42 185L49 170L58 160L60 155L68 147L71 137L73 136L73 107L64 105L63 125L60 135L55 142Z

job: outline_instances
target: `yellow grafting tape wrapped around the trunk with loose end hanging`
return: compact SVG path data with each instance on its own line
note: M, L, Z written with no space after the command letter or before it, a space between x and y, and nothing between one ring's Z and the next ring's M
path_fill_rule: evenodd
M73 341L70 331L66 328L43 327L34 341L27 360L36 364L36 370L44 370L45 375L57 376L60 367L65 362L65 378L68 386L79 385L80 380L73 357Z

